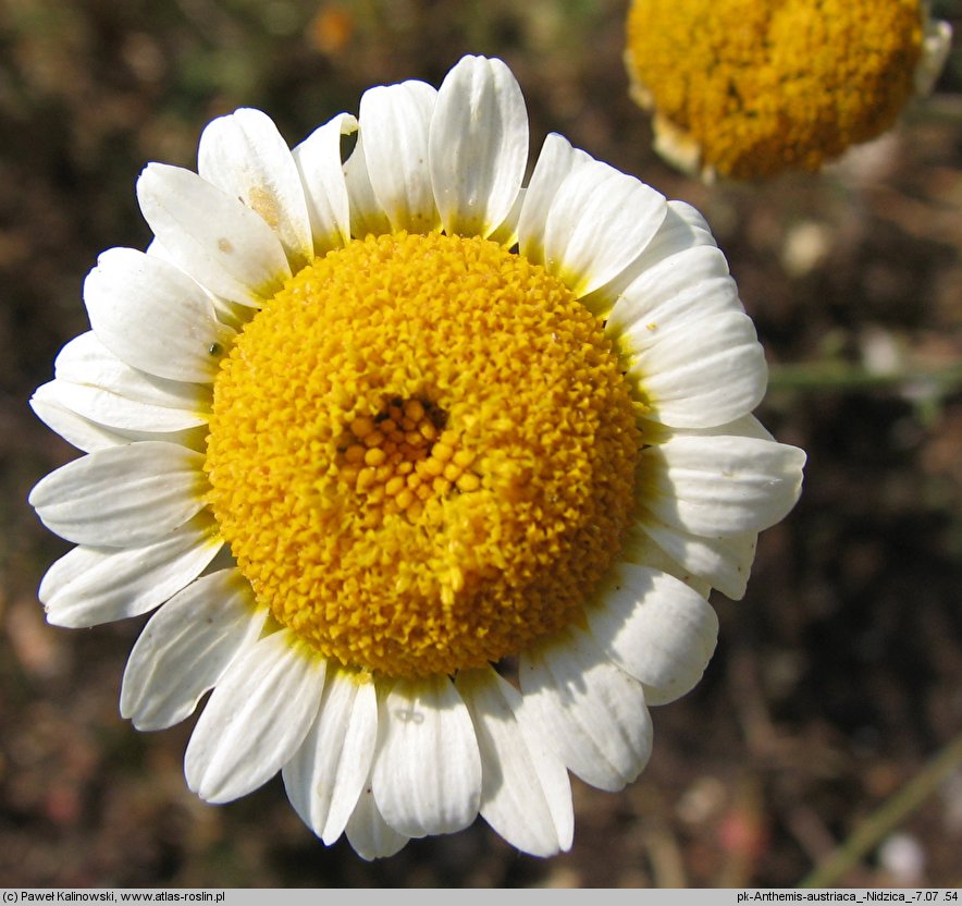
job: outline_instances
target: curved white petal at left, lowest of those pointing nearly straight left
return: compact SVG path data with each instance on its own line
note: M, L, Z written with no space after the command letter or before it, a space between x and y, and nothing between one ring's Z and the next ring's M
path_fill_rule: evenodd
M146 613L199 576L222 546L200 514L152 544L74 548L40 583L47 621L82 628Z

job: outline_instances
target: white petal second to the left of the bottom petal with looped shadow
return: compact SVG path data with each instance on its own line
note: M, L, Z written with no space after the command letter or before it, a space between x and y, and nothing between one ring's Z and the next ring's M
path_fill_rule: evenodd
M325 664L289 629L232 661L187 746L190 789L208 803L227 803L280 771L317 717Z

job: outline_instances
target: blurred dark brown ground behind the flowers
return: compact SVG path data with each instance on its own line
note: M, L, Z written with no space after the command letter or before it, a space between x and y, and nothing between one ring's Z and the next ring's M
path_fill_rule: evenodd
M821 175L706 187L651 152L626 9L0 0L0 886L791 886L866 819L864 855L830 883L962 882L958 744L946 754L962 730L962 60ZM935 9L962 32L960 0ZM148 241L146 161L193 167L202 125L239 106L294 144L370 85L440 84L465 52L514 69L532 150L558 131L707 216L773 366L760 415L810 465L747 598L716 601L705 680L655 711L648 770L618 795L576 783L569 854L520 856L479 820L367 865L317 841L278 780L225 807L195 799L189 721L121 720L143 620L46 625L37 584L69 546L25 499L75 451L26 400L86 329L97 253ZM920 787L939 752L948 767ZM906 807L880 820L892 801Z

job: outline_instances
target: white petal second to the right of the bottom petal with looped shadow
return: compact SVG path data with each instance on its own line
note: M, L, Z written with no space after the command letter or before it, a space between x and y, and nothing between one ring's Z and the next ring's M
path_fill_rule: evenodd
M585 783L615 792L648 763L652 726L641 683L585 632L523 652L521 694L544 739Z

